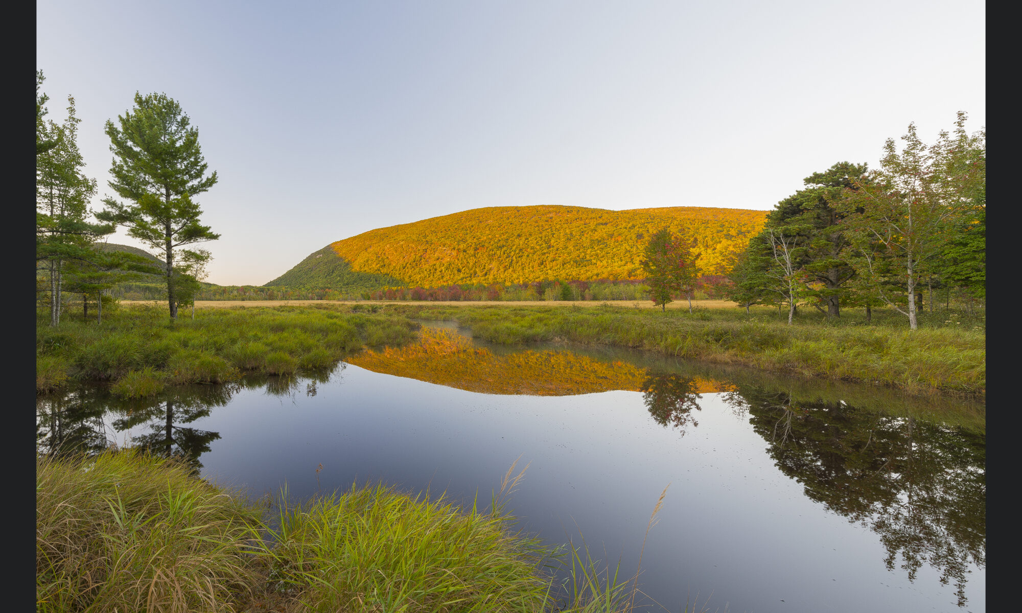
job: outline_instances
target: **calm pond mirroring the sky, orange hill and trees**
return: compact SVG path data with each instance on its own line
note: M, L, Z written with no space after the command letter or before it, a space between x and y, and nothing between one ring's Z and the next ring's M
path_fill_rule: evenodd
M622 574L642 551L668 611L985 610L975 402L430 324L315 376L41 397L37 423L43 451L144 444L252 498L382 480L489 502L517 460L519 526Z

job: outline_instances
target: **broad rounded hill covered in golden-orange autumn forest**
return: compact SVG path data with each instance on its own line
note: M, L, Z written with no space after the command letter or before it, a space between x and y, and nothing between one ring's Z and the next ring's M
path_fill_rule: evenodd
M763 226L764 210L672 206L605 210L492 206L370 230L316 251L270 286L370 289L554 279L638 279L662 228L690 236L701 274L721 274Z

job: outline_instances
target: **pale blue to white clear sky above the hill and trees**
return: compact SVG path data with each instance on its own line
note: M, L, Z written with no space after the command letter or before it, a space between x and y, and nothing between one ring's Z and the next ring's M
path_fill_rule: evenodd
M210 282L481 206L769 209L910 123L985 125L985 8L907 2L40 0L95 206L136 91L198 128ZM109 238L142 246L124 231Z

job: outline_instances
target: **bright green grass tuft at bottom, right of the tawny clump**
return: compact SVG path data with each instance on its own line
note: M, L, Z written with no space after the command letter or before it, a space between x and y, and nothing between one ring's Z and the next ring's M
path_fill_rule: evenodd
M280 508L278 584L323 611L545 611L549 548L500 507L460 511L383 485Z

